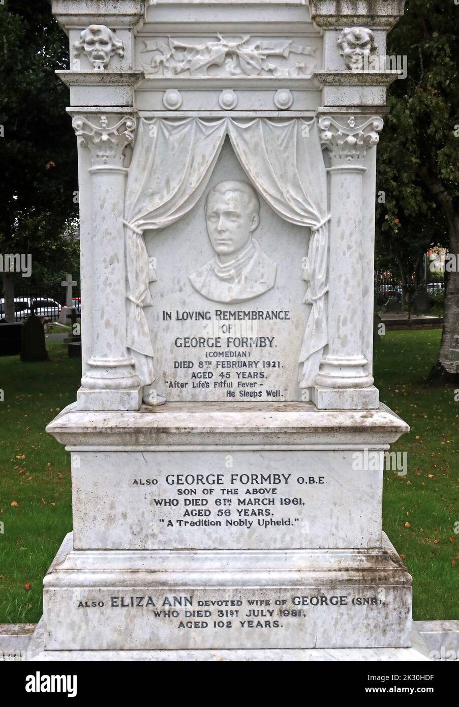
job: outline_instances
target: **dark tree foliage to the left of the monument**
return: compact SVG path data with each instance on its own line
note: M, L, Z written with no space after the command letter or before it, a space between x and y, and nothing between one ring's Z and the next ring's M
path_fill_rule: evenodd
M68 68L68 40L47 0L5 0L0 40L0 252L30 253L37 281L78 253L62 235L78 225L78 173L68 89L54 74Z

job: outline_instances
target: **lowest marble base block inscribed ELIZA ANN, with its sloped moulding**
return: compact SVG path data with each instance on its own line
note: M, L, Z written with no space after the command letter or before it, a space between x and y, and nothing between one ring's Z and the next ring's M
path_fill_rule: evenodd
M44 647L408 646L410 575L385 542L158 554L73 550L68 535L44 579Z

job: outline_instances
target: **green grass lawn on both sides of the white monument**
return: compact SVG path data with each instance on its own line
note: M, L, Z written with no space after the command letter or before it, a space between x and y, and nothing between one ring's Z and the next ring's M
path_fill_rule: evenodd
M459 619L459 402L422 387L439 341L438 329L388 332L375 351L381 400L411 427L393 445L407 476L384 474L383 528L413 575L415 619ZM69 455L44 427L75 399L80 361L47 346L49 362L0 358L0 623L40 619L42 578L71 530Z

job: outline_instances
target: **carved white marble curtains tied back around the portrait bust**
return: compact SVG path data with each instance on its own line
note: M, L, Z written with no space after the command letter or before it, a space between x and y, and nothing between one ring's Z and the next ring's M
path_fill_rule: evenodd
M249 180L285 221L311 228L303 302L312 305L299 355L301 387L314 385L327 343L327 176L315 121L141 119L126 187L127 346L142 385L154 380L153 345L143 309L152 303L147 229L165 228L202 196L225 136Z

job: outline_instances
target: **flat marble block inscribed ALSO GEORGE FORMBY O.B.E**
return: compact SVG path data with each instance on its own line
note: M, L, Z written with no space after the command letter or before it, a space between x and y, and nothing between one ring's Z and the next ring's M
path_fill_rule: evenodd
M383 452L369 455L376 463L362 473L336 445L72 452L74 547L378 547Z

